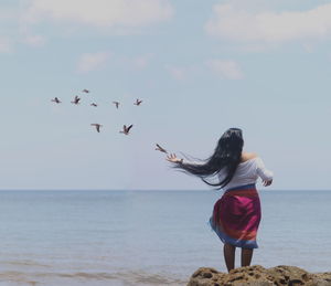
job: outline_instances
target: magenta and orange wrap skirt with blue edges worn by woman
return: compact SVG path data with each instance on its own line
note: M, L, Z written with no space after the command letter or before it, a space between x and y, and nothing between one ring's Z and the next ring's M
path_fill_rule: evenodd
M260 202L255 184L227 190L215 203L210 220L223 243L243 248L257 248Z

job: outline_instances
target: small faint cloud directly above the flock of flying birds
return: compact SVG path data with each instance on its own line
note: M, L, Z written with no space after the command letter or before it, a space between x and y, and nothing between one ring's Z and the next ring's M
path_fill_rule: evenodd
M81 73L87 73L90 71L99 70L107 63L110 55L110 52L83 54L78 61L77 70Z

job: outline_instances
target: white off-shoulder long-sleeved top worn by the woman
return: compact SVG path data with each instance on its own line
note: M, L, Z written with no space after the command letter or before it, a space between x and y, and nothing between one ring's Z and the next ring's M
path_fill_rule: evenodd
M225 176L225 171L222 170L220 172L220 179L224 179ZM238 165L234 177L223 190L226 191L235 187L256 183L258 178L261 178L264 181L269 181L273 180L274 173L266 169L259 157L255 157Z

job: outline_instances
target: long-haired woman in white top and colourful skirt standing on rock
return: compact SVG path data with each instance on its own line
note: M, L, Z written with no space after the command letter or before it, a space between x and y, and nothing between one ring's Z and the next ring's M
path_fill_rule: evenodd
M243 146L242 130L229 128L220 138L214 153L203 163L186 162L174 153L167 157L175 168L225 191L214 205L210 223L224 243L228 272L235 267L236 247L242 248L242 266L250 265L253 250L257 248L256 234L260 221L255 183L258 177L265 187L273 182L273 172L255 153L243 152Z

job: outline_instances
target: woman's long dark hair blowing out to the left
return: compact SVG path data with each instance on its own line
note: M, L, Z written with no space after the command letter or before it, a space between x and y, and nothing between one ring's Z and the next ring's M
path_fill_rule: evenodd
M203 160L203 163L175 163L174 168L184 172L200 177L209 186L217 189L224 188L233 178L241 160L244 140L243 131L239 128L227 129L220 138L214 153ZM226 171L224 179L220 178L221 170ZM213 178L216 182L212 182Z

